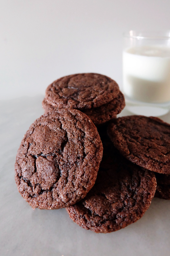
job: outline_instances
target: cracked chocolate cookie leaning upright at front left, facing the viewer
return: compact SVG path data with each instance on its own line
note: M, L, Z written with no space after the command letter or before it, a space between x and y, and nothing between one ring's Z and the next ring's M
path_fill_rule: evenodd
M30 126L19 147L15 181L33 209L75 204L92 188L103 147L96 127L79 110L58 109Z

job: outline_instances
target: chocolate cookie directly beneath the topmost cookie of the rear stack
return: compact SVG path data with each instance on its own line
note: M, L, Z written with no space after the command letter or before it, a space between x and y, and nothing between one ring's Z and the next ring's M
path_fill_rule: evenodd
M54 106L48 104L46 99L43 100L42 105L46 112L54 111L56 109ZM111 100L109 103L106 103L97 108L92 107L91 109L84 109L81 111L84 114L88 115L88 117L95 125L98 125L103 124L112 118L115 118L116 115L119 114L124 107L125 98L120 91L118 96L115 99Z

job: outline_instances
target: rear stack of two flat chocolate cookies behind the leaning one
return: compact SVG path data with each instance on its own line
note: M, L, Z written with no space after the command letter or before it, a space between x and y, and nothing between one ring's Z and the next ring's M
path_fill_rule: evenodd
M110 77L87 73L54 81L47 87L42 104L46 112L58 108L78 109L99 125L115 118L125 107L125 99Z

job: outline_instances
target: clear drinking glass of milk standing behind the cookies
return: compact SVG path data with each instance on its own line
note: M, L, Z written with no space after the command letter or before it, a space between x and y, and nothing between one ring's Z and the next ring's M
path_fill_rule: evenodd
M126 108L146 116L170 110L170 31L124 34L123 93Z

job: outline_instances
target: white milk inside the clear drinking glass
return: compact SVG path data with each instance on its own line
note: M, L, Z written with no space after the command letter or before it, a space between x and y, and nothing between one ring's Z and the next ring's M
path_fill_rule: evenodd
M123 52L123 90L139 101L170 101L170 47L138 46Z

